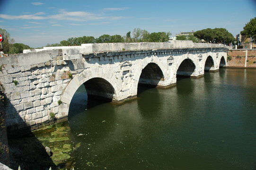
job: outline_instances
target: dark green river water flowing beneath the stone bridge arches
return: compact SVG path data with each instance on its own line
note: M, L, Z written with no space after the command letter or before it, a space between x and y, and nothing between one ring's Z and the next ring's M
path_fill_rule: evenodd
M79 170L256 170L256 69L220 69L86 109L72 99ZM79 135L80 134L80 135Z

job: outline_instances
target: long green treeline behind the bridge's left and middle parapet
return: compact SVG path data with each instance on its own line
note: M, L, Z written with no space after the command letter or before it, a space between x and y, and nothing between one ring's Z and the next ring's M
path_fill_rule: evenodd
M60 43L47 44L46 47L53 46L72 46L81 45L82 43L110 43L110 42L167 42L171 33L169 32L158 32L149 33L146 30L140 28L135 28L131 32L129 31L126 36L121 35L108 35L104 34L98 38L93 36L83 36L83 37L71 37L67 40L62 40Z

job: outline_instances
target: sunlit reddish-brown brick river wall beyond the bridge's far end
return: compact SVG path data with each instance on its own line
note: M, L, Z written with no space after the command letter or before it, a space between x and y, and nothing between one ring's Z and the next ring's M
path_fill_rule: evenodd
M234 68L244 68L245 62L247 62L247 68L256 68L256 50L248 50L247 53L247 60L245 60L245 51L246 49L241 50L230 50L228 52L228 59L227 67L234 67Z

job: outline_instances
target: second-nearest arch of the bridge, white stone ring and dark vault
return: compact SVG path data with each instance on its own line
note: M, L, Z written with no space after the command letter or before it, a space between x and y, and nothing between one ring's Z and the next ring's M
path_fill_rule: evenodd
M163 62L157 56L153 56L151 58L147 57L142 59L141 65L136 69L136 72L133 77L132 92L131 92L132 96L137 95L139 83L141 84L151 83L151 85L155 85L155 86L157 85L164 86L165 79L168 76L167 71L164 71L164 70L167 70L166 67L163 65ZM153 73L153 74L150 75L150 73ZM147 82L145 80L147 78L151 78L151 81ZM145 82L143 82L143 79Z

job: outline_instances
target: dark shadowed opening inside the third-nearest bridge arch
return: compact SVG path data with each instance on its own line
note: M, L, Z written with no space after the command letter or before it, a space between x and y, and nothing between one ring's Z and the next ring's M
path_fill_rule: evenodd
M195 69L193 60L184 59L177 69L176 77L190 77Z

